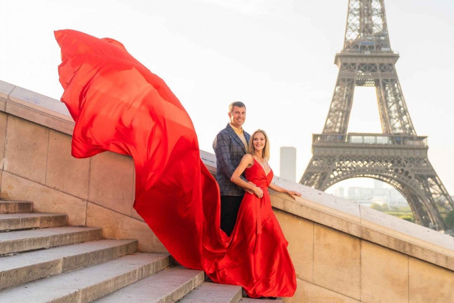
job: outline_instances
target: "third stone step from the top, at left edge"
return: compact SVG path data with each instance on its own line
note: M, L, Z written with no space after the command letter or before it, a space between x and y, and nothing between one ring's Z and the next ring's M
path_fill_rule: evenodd
M0 255L99 240L101 234L101 228L69 226L0 233Z

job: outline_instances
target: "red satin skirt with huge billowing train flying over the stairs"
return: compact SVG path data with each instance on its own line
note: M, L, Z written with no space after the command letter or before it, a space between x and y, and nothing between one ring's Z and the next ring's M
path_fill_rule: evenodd
M235 236L227 237L219 227L218 185L200 159L191 119L164 81L116 40L75 30L55 31L55 38L61 100L75 121L71 154L131 155L133 207L183 266L203 269L218 283L242 285L252 297L292 296L295 272L269 195L260 211L257 200L245 198L252 208L242 207Z

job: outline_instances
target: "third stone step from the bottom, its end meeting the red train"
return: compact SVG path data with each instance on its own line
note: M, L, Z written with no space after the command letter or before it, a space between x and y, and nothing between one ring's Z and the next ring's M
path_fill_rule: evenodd
M144 278L115 293L100 298L96 303L164 303L176 302L203 283L200 270L180 266L171 267ZM213 302L213 301L210 301Z

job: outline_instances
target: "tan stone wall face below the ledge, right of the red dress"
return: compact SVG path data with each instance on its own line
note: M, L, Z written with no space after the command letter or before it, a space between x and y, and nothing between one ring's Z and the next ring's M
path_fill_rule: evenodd
M298 287L285 302L454 302L454 272L275 209Z

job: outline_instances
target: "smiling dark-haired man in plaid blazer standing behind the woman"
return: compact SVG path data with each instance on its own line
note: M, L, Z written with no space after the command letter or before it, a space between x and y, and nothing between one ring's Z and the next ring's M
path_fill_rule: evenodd
M230 178L247 153L251 135L242 128L246 120L244 103L237 101L230 104L228 116L229 123L217 134L213 149L217 164L216 180L221 189L221 229L230 236L244 196L244 189L232 183ZM244 176L241 178L248 182Z

